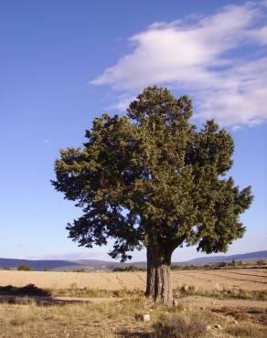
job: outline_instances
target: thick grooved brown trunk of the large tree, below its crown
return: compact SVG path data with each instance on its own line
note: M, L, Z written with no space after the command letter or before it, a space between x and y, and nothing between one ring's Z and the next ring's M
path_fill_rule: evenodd
M173 303L173 290L170 278L170 252L163 252L155 246L147 247L147 275L145 295L155 302L166 305Z

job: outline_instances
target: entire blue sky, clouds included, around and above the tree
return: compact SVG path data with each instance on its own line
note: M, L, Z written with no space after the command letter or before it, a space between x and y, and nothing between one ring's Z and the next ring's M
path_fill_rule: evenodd
M1 2L0 257L110 259L67 238L80 211L49 180L59 148L150 84L187 93L194 122L231 132L230 174L255 199L229 254L267 249L266 17L266 1ZM200 255L179 248L174 260Z

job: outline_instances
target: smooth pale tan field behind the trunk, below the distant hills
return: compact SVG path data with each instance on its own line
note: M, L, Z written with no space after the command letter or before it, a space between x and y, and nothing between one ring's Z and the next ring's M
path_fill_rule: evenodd
M267 269L212 269L172 271L174 288L183 284L202 290L240 288L267 290ZM0 286L21 287L29 283L39 288L90 288L144 290L145 272L54 272L0 270Z

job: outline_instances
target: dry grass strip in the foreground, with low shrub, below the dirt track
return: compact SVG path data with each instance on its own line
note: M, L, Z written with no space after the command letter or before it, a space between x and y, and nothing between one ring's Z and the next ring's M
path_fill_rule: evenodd
M136 314L140 313L149 313L151 321L136 321ZM0 304L1 338L186 338L203 334L207 338L263 337L267 336L267 329L251 322L234 324L229 316L190 310L182 302L176 307L155 305L143 296L101 304L38 306L32 299L25 299L23 304Z

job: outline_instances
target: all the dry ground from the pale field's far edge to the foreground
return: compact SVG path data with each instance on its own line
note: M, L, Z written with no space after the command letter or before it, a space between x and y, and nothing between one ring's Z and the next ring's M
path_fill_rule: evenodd
M0 270L0 287L50 291L46 301L0 296L0 338L267 337L266 269L178 270L172 280L166 307L144 297L145 272Z

